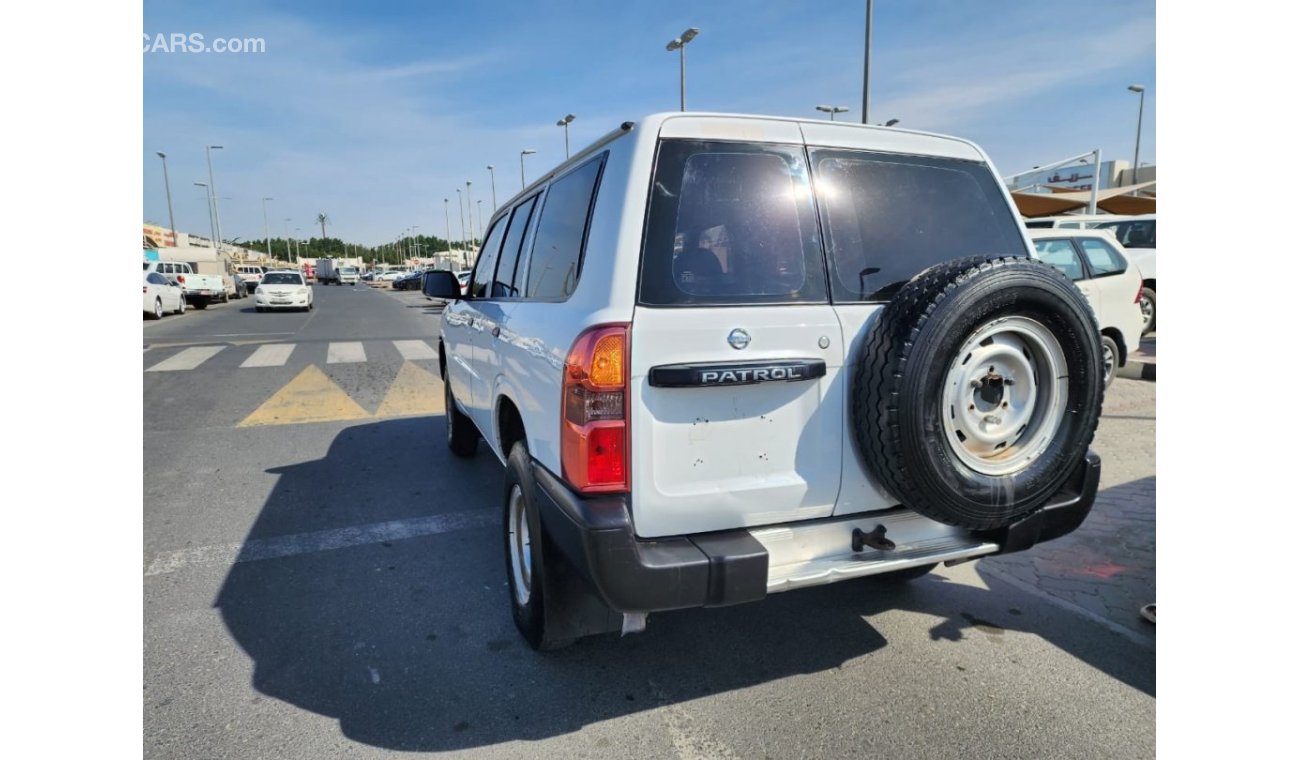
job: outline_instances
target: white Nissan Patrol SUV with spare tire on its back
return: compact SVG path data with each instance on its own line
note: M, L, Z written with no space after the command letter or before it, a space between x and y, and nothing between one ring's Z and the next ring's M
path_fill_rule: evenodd
M954 138L656 114L504 203L467 296L426 275L533 647L1079 526L1098 327L997 177Z

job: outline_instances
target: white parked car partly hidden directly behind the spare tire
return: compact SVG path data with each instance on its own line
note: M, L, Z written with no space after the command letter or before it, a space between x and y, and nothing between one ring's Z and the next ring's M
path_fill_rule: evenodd
M1092 305L1109 387L1141 340L1141 273L1109 230L1030 230L1030 238L1039 259L1072 279Z

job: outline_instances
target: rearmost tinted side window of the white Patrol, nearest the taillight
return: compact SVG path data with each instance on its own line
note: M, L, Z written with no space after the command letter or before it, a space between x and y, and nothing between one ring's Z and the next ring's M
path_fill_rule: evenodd
M528 264L528 298L567 299L577 287L586 223L604 156L602 153L551 182L537 222L537 234L533 236L533 256Z

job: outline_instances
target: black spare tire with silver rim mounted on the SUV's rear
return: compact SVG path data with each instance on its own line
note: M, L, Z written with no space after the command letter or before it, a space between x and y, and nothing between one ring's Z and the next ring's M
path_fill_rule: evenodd
M913 278L870 329L853 429L904 505L996 529L1080 465L1102 392L1101 333L1067 277L1036 259L961 259Z

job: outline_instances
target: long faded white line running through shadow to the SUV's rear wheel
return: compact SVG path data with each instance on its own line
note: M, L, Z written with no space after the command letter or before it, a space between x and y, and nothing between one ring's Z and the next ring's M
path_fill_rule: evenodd
M318 530L276 538L255 538L242 544L202 546L157 555L144 570L144 576L162 576L196 565L229 565L234 563L291 557L295 555L384 543L386 540L402 540L406 538L468 530L471 527L485 527L497 525L498 522L499 516L495 509L473 509L430 514L429 517L415 517L411 520L394 520L391 522L372 522L369 525L355 525L335 530Z

